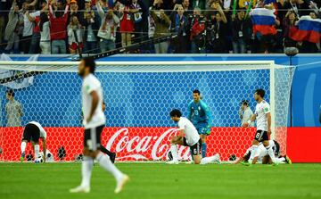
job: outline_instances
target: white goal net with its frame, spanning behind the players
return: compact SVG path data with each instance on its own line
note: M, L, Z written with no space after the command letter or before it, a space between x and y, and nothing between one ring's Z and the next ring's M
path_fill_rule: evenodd
M0 79L0 161L19 160L23 126L31 120L45 128L55 161L78 160L83 145L78 62L0 62L0 70L12 74ZM271 105L272 138L286 153L293 71L266 61L97 62L95 75L103 85L107 117L102 144L118 153L118 161L165 160L169 139L176 133L169 112L177 108L186 116L193 90L199 89L212 113L207 156L219 153L223 161L232 154L240 157L255 134L255 128L241 127L241 102L248 100L254 111L253 93L263 88ZM13 89L14 100L22 107L21 125L8 127L12 112L6 109L4 94L13 84L26 81L25 87ZM32 159L30 145L26 152ZM188 149L179 148L182 160L189 155Z

